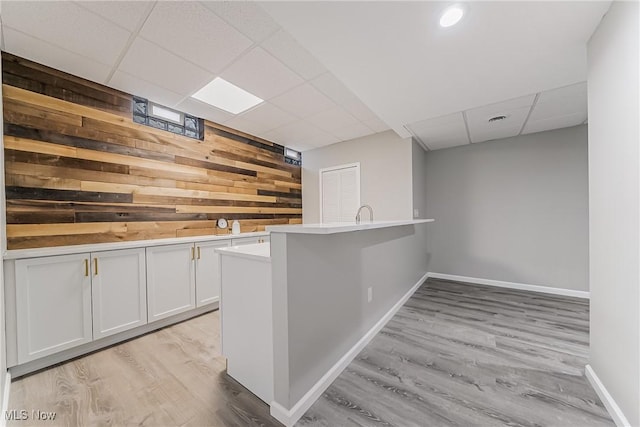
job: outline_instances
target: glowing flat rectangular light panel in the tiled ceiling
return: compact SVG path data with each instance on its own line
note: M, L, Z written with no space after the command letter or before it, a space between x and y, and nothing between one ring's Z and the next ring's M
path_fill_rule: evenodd
M264 101L220 77L213 79L191 97L231 114L242 113Z

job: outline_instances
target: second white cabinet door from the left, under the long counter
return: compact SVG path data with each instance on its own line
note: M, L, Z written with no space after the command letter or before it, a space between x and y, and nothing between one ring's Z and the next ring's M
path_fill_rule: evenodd
M144 248L91 254L93 338L147 323Z

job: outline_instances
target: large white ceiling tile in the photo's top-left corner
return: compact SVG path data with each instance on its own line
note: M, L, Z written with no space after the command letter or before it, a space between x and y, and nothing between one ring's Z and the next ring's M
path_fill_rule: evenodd
M71 2L3 2L2 25L107 65L116 62L131 35Z

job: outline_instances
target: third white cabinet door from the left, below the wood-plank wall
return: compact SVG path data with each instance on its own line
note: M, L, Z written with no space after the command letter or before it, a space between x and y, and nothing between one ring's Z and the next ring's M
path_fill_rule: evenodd
M149 322L196 307L194 252L192 243L147 248Z

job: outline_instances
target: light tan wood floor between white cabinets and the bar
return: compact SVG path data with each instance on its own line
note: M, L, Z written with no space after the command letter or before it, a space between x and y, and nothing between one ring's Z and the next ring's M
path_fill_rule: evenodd
M11 384L9 409L54 411L10 426L281 426L225 373L215 311Z

